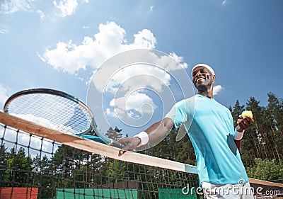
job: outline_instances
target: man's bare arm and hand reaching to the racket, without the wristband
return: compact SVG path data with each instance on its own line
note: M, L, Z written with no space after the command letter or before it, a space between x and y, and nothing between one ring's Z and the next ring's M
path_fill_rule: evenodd
M168 132L171 130L173 125L174 123L171 118L163 118L163 120L154 123L153 125L148 127L144 132L146 132L149 136L149 142L156 142L163 140L168 135ZM120 155L122 155L129 149L135 149L139 147L139 144L141 143L141 138L125 137L117 141L122 144L125 144L125 147L123 147L120 151Z

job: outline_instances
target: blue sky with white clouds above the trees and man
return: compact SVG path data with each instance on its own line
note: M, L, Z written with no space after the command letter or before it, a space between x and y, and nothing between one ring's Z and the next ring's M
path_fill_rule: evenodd
M132 136L173 105L164 108L164 93L178 101L195 91L199 63L214 68L219 103L253 96L266 106L267 93L283 96L282 8L281 0L0 0L0 106L23 89L56 89L88 103L98 125L106 118ZM158 56L128 56L142 50ZM127 60L119 69L117 57ZM93 89L99 78L107 81Z

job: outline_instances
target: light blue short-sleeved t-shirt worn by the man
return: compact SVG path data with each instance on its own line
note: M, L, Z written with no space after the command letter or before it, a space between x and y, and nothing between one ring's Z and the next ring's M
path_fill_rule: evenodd
M166 118L185 125L197 157L200 183L248 182L246 169L233 140L233 118L228 108L202 95L187 98L171 108Z

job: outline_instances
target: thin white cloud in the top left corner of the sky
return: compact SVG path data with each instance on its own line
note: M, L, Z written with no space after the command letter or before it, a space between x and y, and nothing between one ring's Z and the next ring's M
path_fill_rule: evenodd
M0 4L0 13L11 14L17 11L30 11L34 0L4 0Z

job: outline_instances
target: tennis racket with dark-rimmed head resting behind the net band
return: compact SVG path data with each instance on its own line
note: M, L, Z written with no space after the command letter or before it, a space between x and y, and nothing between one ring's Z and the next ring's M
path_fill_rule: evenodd
M103 135L96 125L91 109L74 96L53 89L27 89L14 93L4 104L4 112L30 120L71 135L90 140L101 140L113 147L124 147L120 142ZM96 136L86 133L94 130Z

